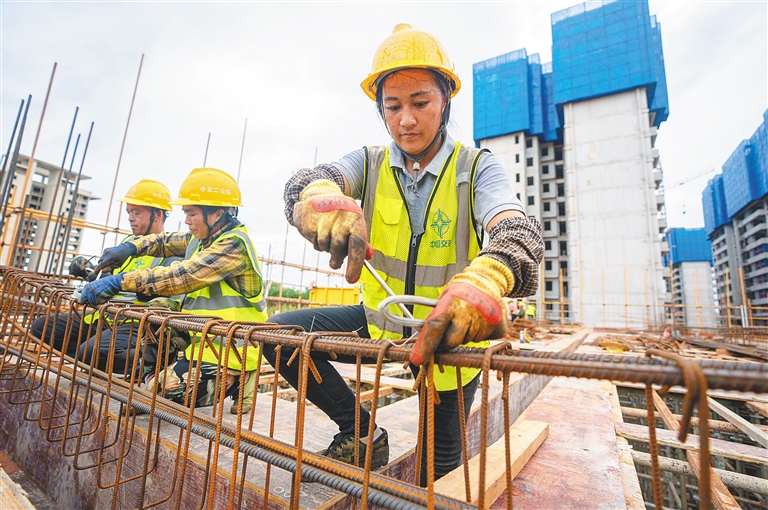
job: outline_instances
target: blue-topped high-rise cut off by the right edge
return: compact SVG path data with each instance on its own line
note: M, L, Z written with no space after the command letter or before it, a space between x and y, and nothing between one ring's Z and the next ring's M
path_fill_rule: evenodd
M768 111L701 198L722 323L768 326Z

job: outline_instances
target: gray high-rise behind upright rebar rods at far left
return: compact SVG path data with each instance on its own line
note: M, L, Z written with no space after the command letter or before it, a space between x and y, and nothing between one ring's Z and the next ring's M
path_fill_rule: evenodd
M22 186L24 178L28 171L29 157L19 155L16 163L16 171L12 180L11 196L16 188ZM8 221L7 232L4 233L4 242L2 246L2 260L7 261L11 266L23 269L46 271L53 268L56 264L56 257L66 244L67 255L65 257L65 268L69 264L72 253L80 250L82 241L83 224L88 215L88 204L91 200L98 198L91 195L82 186L78 186L77 197L74 198L74 190L77 181L77 172L62 170L56 165L35 160L32 169L32 178L30 188L27 192L27 211L21 222L20 228L16 228L17 220ZM80 181L88 180L90 177L81 175ZM59 182L58 191L56 183ZM3 179L4 182L4 179ZM62 200L64 203L62 204ZM74 207L73 224L69 232L69 237L64 240L64 224L69 215L70 208ZM61 221L56 221L59 210L61 210ZM48 213L53 211L52 221L46 229L48 223ZM8 211L9 213L11 211ZM18 215L16 215L18 216ZM11 219L9 217L9 219ZM46 232L47 230L47 232ZM45 233L45 234L44 234ZM12 237L16 235L14 243ZM45 236L45 239L43 237ZM53 242L53 240L56 240ZM54 250L51 252L53 242ZM22 246L23 248L13 251L11 260L11 247ZM38 263L39 260L39 263ZM59 264L56 264L57 266Z

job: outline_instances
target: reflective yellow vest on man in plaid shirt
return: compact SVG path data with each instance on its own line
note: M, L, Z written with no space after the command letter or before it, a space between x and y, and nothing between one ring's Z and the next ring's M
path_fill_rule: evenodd
M248 230L245 226L240 225L227 232L224 232L218 237L211 247L216 246L216 243L220 243L227 239L240 239L245 245L248 253L248 258L251 260L251 266L259 276L261 276L261 266L259 265L259 259L256 256L256 249L253 247L253 241L248 235ZM204 248L200 245L197 239L192 239L187 246L186 259L189 260L194 254L203 251ZM247 322L266 322L267 320L267 300L264 297L264 286L262 284L261 291L254 297L245 297L236 291L226 281L214 283L200 290L190 292L181 301L181 311L185 313L194 313L197 315L216 315L224 320L229 321L247 321ZM200 346L201 335L192 335L194 342L187 347L186 356L190 361L197 360L197 352ZM218 354L220 351L221 343L220 338L215 337L212 339L212 343L216 346L216 351L211 350L207 345L203 348L203 361L206 363L219 364ZM238 354L242 359L243 348L237 348ZM238 362L238 358L235 356L234 351L229 351L229 360L227 363L228 368L231 370L240 371L241 365ZM221 363L224 362L224 354L221 353ZM246 371L256 370L259 363L259 349L248 346L247 359L245 361Z

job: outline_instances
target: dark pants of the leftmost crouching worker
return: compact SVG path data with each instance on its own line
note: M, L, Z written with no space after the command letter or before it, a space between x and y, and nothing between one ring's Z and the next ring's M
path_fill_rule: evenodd
M62 350L64 340L67 337L67 313L51 314L46 327L46 317L41 316L32 322L30 332L44 343L52 345L54 349ZM45 331L43 331L45 329ZM82 331L82 334L81 334ZM90 338L86 337L90 333ZM80 347L78 349L77 341L80 337ZM133 364L134 350L138 337L138 323L126 323L117 326L115 334L115 345L111 345L112 330L107 328L102 321L94 321L88 325L78 317L73 317L71 329L69 331L69 341L66 342L65 354L75 357L85 363L91 362L94 353L94 346L99 351L98 369L106 370L107 357L110 349L114 349L115 361L112 371L115 373L125 373L126 366ZM149 361L146 361L149 362Z

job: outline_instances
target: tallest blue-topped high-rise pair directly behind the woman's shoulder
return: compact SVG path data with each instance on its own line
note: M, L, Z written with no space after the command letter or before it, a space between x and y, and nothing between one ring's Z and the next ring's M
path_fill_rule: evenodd
M544 228L540 316L605 327L664 320L657 129L661 27L647 1L552 14L552 62L525 49L474 65L474 138ZM541 306L543 305L543 306Z

